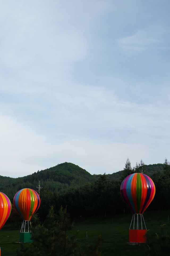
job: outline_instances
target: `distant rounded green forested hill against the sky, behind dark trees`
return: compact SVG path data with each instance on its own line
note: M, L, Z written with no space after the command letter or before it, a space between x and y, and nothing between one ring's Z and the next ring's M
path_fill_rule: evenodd
M163 164L144 165L143 171L149 176L163 171ZM109 180L120 180L123 171L107 174ZM80 187L96 181L101 175L91 175L86 170L73 163L61 163L46 170L37 171L31 175L19 178L0 176L0 191L13 199L15 193L25 187L37 190L39 181L41 187L50 191L67 190L70 187Z

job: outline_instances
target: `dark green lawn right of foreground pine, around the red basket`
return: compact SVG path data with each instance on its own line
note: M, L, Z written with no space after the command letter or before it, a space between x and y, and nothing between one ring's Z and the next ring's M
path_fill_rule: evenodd
M170 212L149 212L144 214L145 223L148 234L151 237L155 233L161 232L162 224L167 224L167 219L170 219ZM89 245L94 245L98 235L101 235L103 241L101 242L100 251L102 256L131 256L145 255L145 247L143 245L129 246L127 245L129 239L129 226L132 215L117 215L113 218L96 218L87 219L75 223L74 230L79 230L78 244L81 245L82 251L90 255ZM168 230L170 225L164 226ZM86 239L87 231L87 239Z

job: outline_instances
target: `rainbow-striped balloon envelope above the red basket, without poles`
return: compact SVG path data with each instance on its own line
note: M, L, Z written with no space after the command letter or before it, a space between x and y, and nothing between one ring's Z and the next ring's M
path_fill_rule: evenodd
M143 214L155 196L155 185L142 173L127 176L120 187L121 196L134 214Z

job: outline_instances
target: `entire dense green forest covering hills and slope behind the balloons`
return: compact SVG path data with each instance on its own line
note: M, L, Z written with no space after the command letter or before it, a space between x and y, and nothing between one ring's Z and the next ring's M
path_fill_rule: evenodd
M0 176L0 191L8 195L11 202L15 193L25 187L37 190L39 181L41 206L39 217L45 219L50 206L57 212L61 205L67 207L71 218L97 215L128 213L129 209L120 195L123 179L134 172L145 172L152 178L156 187L155 199L148 210L166 210L170 207L170 165L145 165L141 160L131 167L127 159L124 170L113 174L91 175L73 163L62 163L46 170L19 178ZM11 214L11 219L13 218Z

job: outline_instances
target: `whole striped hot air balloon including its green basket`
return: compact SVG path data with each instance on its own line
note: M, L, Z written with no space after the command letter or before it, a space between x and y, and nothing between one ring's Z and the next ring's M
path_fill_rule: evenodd
M30 219L40 207L39 194L33 189L21 189L14 196L14 207L23 219L20 242L30 242Z

